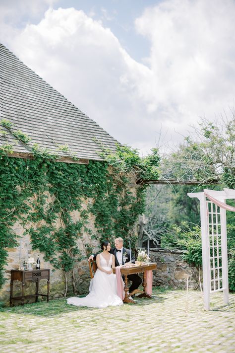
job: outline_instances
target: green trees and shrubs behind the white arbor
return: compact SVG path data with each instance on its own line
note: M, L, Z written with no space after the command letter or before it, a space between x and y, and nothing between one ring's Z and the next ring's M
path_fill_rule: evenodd
M151 185L147 190L146 230L161 241L161 246L184 249L185 260L202 265L200 207L189 192L203 189L235 188L235 115L217 125L202 121L194 135L185 138L161 161L161 178L196 180L198 186ZM204 183L218 182L217 185ZM233 200L227 200L234 206ZM227 236L230 289L235 290L235 214L227 212Z

